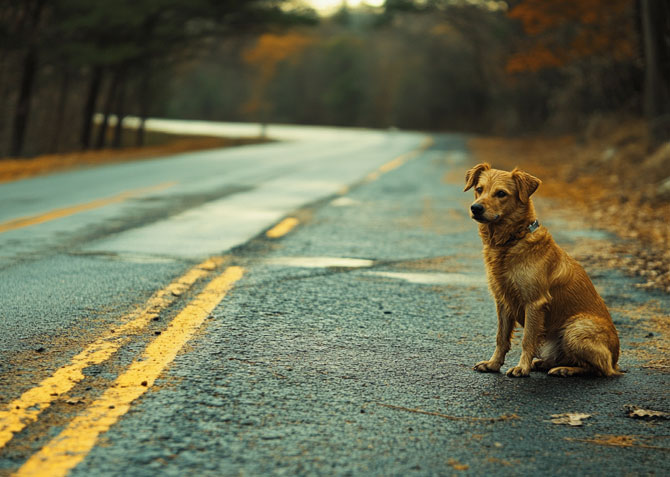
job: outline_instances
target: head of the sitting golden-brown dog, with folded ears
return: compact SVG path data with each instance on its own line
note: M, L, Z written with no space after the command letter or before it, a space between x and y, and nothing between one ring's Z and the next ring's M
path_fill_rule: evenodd
M465 175L464 191L475 188L471 217L482 224L516 221L529 210L530 196L540 184L540 179L518 169L508 172L477 164Z

